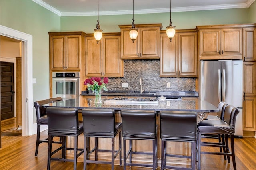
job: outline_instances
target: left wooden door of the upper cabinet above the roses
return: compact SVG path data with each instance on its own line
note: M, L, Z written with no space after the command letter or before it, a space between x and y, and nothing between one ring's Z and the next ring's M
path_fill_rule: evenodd
M85 51L85 76L86 77L101 77L102 59L101 59L101 41L97 44L94 37L86 38Z

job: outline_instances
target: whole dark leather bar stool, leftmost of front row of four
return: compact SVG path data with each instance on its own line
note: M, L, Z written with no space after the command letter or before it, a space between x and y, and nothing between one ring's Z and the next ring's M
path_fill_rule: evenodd
M48 117L48 161L47 170L50 170L50 163L52 160L63 162L74 162L74 170L76 170L77 158L84 153L83 148L78 148L78 136L83 133L83 123L78 122L78 110L76 108L58 108L47 107L46 114ZM56 150L52 151L53 137L61 138L62 145ZM66 137L74 137L74 148L66 147ZM52 157L55 153L62 150L62 157ZM74 159L66 158L66 150L74 150ZM80 151L78 153L78 150Z

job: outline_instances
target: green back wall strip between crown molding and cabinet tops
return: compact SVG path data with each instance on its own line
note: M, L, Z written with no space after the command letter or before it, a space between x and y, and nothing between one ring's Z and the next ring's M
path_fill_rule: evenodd
M249 23L248 8L226 10L205 10L192 12L173 12L172 24L176 29L196 28L199 25L242 24ZM135 24L162 23L163 30L170 22L170 13L135 14ZM118 25L132 23L132 15L99 16L103 32L120 32ZM61 31L84 31L93 33L97 16L61 17Z

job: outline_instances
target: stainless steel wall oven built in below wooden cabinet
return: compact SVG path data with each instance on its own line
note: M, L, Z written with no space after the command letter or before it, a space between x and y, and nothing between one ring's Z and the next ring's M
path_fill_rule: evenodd
M52 72L52 97L79 99L79 72Z

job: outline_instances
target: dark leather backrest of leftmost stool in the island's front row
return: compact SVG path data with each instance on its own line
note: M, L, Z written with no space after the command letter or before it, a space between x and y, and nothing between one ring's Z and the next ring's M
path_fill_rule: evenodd
M52 136L72 136L80 131L76 108L47 107L48 134Z

